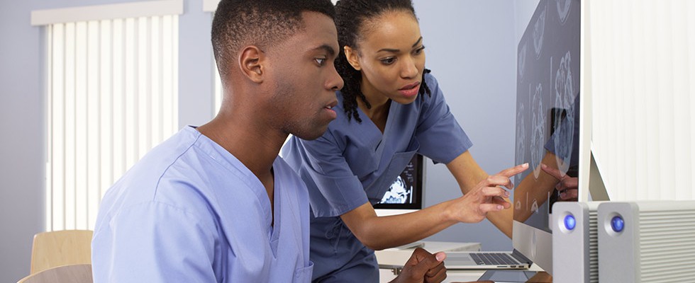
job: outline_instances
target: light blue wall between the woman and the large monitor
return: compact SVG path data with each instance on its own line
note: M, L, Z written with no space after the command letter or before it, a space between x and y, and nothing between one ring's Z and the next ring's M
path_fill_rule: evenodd
M516 48L538 1L413 1L426 65L472 139L472 155L491 174L515 165ZM446 166L428 163L426 206L460 195ZM479 242L483 250L512 248L511 239L487 220L456 224L428 240Z

